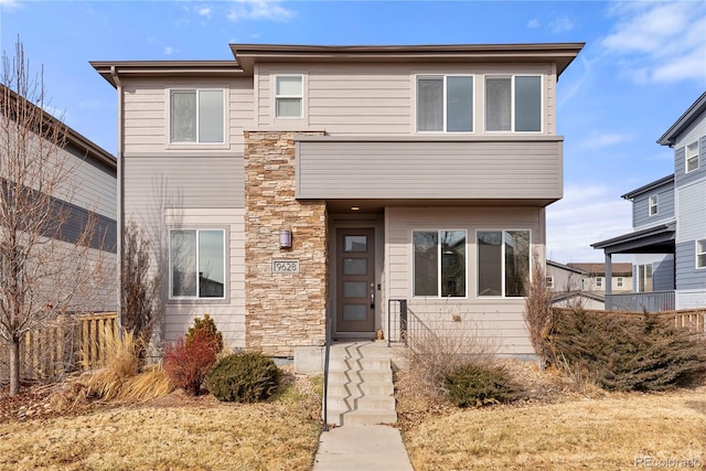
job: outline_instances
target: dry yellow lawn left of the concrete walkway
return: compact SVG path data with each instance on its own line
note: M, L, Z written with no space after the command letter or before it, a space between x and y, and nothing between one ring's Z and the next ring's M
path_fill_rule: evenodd
M183 393L77 417L0 424L0 470L309 470L321 397L307 378L271 402Z

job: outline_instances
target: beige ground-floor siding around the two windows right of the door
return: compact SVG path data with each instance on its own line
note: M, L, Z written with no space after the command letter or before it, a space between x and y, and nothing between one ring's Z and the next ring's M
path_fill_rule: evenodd
M429 324L450 324L453 314L474 323L478 331L492 332L500 353L533 354L524 324L524 298L477 297L477 231L528 229L532 250L544 255L544 210L539 207L445 207L402 208L385 211L385 267L387 299L407 299L410 310ZM414 298L411 232L418 229L466 229L468 275L467 298ZM385 303L385 308L387 306ZM384 314L384 319L386 318Z

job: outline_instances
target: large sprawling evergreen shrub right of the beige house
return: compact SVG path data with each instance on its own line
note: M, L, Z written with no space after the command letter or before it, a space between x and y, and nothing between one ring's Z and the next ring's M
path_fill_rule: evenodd
M563 310L552 335L555 355L584 367L608 390L664 390L703 374L706 345L673 318Z

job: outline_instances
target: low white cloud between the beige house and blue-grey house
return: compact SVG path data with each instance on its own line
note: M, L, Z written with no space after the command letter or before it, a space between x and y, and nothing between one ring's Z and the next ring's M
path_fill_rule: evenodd
M547 207L547 258L603 261L591 244L632 231L630 203L598 185L568 185L564 195Z

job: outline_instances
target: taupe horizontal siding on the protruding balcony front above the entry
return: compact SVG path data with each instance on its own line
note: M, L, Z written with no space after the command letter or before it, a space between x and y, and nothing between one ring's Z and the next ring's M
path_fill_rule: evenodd
M300 199L561 197L561 141L302 139Z

